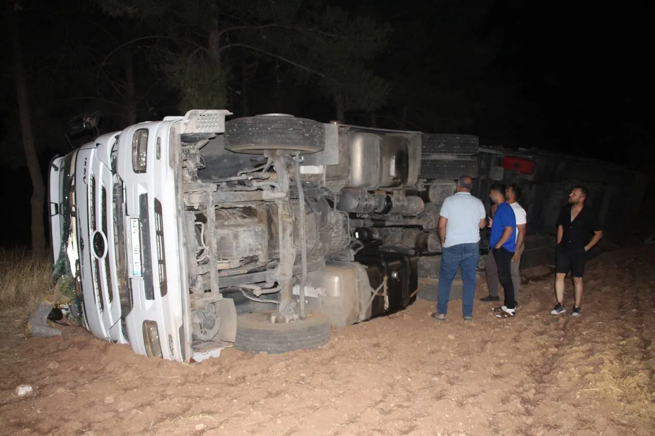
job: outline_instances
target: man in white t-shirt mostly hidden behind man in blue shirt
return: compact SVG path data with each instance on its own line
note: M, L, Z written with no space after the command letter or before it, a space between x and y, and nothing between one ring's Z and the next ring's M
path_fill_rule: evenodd
M525 228L527 226L527 213L525 209L518 203L521 198L521 187L517 185L509 185L505 189L505 201L512 206L514 216L516 217L516 251L512 257L512 283L514 283L514 295L516 300L519 299L519 286L521 285L521 273L519 266L521 266L521 255L525 249ZM485 273L487 276L487 286L489 287L489 295L483 297L481 301L498 301L498 268L496 262L491 256L485 257Z

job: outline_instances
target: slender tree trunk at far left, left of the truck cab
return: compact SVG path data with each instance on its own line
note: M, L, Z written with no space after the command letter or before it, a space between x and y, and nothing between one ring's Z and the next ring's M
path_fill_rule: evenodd
M45 225L43 223L43 211L45 204L45 185L43 175L39 168L39 158L34 143L32 122L29 115L28 84L25 77L25 65L23 64L23 48L20 43L18 16L16 12L10 18L11 38L14 51L14 79L16 80L16 99L18 100L18 116L20 117L20 130L23 138L23 149L28 164L29 178L32 182L31 204L31 236L32 251L41 255L45 253Z

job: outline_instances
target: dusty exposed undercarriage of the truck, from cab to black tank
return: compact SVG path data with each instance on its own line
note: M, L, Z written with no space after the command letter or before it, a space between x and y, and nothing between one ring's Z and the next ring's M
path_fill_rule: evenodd
M268 352L306 346L291 343L288 331L309 319L327 326L326 341L330 323L364 321L416 298L417 251L440 250L423 230L436 227L434 215L423 213L421 196L407 195L419 193L420 134L289 115L240 118L225 129L181 138L196 340L217 333L207 327L215 326L208 307L234 293L271 306L239 321L260 333L269 324L278 332L271 342L238 327L235 344ZM271 326L288 323L295 325Z

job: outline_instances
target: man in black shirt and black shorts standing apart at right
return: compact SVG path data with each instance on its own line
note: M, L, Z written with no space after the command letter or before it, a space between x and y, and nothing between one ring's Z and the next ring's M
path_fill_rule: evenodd
M587 251L603 237L598 216L584 206L587 189L576 186L569 194L569 203L564 206L557 219L557 251L555 261L555 297L557 304L550 312L553 315L565 314L564 279L569 271L573 276L575 305L572 316L581 316L582 276L587 261ZM593 238L591 237L593 234ZM589 240L591 239L591 240Z

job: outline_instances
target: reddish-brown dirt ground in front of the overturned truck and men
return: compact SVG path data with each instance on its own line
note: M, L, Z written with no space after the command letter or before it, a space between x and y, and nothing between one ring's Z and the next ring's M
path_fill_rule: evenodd
M589 263L582 318L550 315L553 276L527 280L515 319L478 283L474 321L418 300L335 329L323 348L227 349L183 365L81 328L26 338L5 312L0 433L11 435L652 435L655 246ZM567 308L572 285L567 283ZM17 397L20 384L34 395Z

